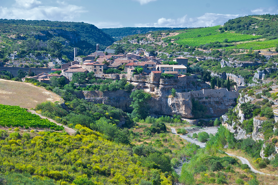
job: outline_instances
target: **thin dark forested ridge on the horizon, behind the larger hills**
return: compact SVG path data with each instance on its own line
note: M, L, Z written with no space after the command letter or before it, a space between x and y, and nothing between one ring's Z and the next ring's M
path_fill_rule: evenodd
M170 27L124 27L124 28L103 28L102 30L114 37L116 40L120 40L123 37L135 34L143 34L151 31L161 30L180 30L186 28L170 28Z

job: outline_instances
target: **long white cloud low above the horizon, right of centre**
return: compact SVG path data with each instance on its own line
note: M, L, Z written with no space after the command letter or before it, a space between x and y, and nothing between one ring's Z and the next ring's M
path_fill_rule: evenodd
M177 19L159 18L155 23L135 24L137 27L207 27L224 24L227 20L239 17L236 14L205 13L200 17L188 17L184 15Z

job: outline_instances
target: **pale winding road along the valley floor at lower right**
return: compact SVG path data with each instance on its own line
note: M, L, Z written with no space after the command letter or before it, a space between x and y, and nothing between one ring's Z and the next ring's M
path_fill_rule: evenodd
M175 130L174 128L171 128L171 131L172 131L173 134L179 135L179 134L177 134L177 132L176 132L176 130ZM187 137L187 136L185 136L185 135L179 135L179 136L180 136L181 138L187 140L187 141L190 142L190 143L194 143L194 144L196 144L196 145L199 145L201 148L205 148L205 146L206 146L205 143L201 143L201 142L196 141L196 140L194 140L194 139L191 139L191 138L189 138L189 137ZM226 154L227 154L228 156L238 158L238 159L242 162L242 164L247 164L247 165L250 167L251 171L254 172L254 173L256 173L256 174L268 175L268 176L276 176L276 177L278 177L278 175L265 174L265 173L263 173L263 172L259 172L259 171L255 170L255 169L251 166L251 164L249 163L249 161L248 161L247 159L243 158L243 157L235 156L235 155L229 154L229 153L226 153Z

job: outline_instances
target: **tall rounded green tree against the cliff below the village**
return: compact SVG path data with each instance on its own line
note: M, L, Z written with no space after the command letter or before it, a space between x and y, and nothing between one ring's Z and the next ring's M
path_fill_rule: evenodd
M132 117L139 117L140 119L145 119L148 116L149 105L148 100L151 98L149 93L144 92L143 90L136 90L131 93L131 98L133 98L131 107L134 108L132 111Z

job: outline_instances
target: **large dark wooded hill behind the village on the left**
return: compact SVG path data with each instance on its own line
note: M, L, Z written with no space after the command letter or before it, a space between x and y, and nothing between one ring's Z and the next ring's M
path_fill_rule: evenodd
M16 50L15 44L20 44L32 37L43 42L60 43L62 45L61 53L70 59L73 59L74 47L79 48L79 55L86 55L96 50L96 44L100 44L100 48L105 49L114 42L110 35L96 26L84 22L0 19L0 34L0 40L4 41L0 41L0 46L5 47L5 51L1 50L2 55ZM17 48L22 48L22 46ZM48 52L48 46L45 48ZM41 48L34 49L42 51ZM25 48L25 50L35 52L33 48ZM1 53L0 58L2 57Z

